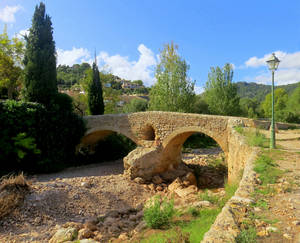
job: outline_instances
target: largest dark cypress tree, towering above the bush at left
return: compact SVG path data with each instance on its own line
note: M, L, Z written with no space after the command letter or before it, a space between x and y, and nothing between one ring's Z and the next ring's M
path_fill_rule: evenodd
M51 18L45 14L45 4L35 7L32 26L26 39L25 87L27 101L47 105L57 94L56 52Z

